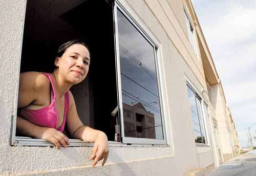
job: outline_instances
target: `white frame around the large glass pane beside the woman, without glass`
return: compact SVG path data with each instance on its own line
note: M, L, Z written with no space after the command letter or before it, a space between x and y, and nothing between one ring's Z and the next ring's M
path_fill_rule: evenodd
M132 25L140 32L141 35L154 47L155 52L155 64L156 64L156 73L157 73L157 84L158 84L158 92L159 92L159 103L160 103L160 112L161 112L161 120L162 120L162 130L163 130L163 140L158 139L148 139L148 138L132 138L125 137L124 135L124 120L123 120L123 109L122 109L122 87L121 87L121 70L120 70L120 53L119 53L119 40L118 40L118 21L117 21L117 9L132 23ZM119 105L119 116L120 116L120 124L121 124L121 137L122 143L125 144L162 144L167 145L166 140L166 129L164 123L164 111L163 111L163 100L162 100L162 89L161 89L161 79L159 76L159 52L158 45L156 42L150 37L144 29L138 24L138 22L127 12L124 7L116 0L114 6L114 19L115 19L115 44L116 44L116 65L117 65L117 79L118 79L118 105Z

